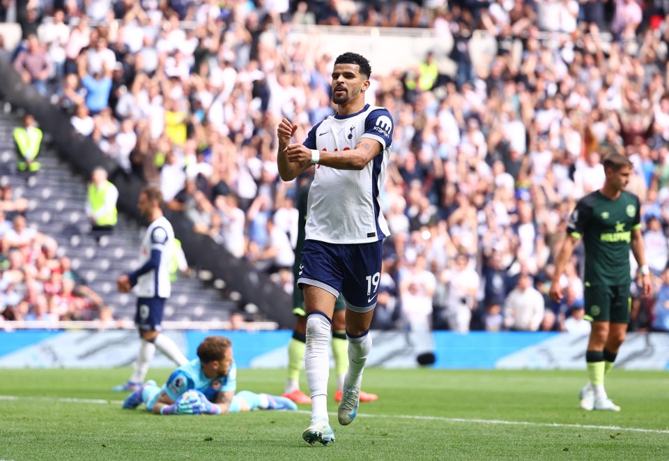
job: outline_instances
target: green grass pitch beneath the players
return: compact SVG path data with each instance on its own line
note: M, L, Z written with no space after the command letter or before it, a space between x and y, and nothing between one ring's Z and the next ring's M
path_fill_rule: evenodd
M309 406L300 406L299 413L224 416L155 416L144 407L122 410L125 395L109 388L129 373L0 370L0 460L669 457L669 432L630 430L669 430L666 372L614 370L607 390L622 411L613 413L578 409L585 372L369 369L363 388L378 393L379 400L363 403L350 426L337 423L334 388L330 389L328 409L336 441L327 447L302 441ZM151 370L147 379L162 383L168 375L169 370ZM239 370L238 389L281 393L284 375L283 370ZM330 378L332 382L332 373Z

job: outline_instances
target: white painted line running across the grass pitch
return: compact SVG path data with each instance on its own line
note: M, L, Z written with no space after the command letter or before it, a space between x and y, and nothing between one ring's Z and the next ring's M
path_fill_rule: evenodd
M0 400L39 400L40 402L68 402L68 403L91 403L95 405L121 405L123 400L85 399L67 397L17 397L15 395L0 395ZM309 414L309 411L295 411L295 413ZM336 413L330 413L336 415ZM443 421L444 423L477 423L490 425L519 425L535 426L538 428L572 428L572 429L595 429L595 430L620 430L627 432L643 432L646 434L669 434L669 430L624 428L622 426L598 426L594 424L566 424L566 423L532 423L530 421L505 421L501 419L477 419L477 418L446 418L445 416L412 416L396 414L358 414L362 418L394 418L415 419L419 421Z

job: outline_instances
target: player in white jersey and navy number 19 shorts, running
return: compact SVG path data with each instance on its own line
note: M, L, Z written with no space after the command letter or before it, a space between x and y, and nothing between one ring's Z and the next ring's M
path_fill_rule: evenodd
M393 124L387 109L364 103L370 73L369 61L360 54L341 54L332 71L337 114L314 126L304 144L291 144L297 129L291 121L283 119L277 129L277 163L284 181L316 165L298 273L307 311L305 370L312 397L312 421L302 438L309 444L334 441L327 408L328 340L340 292L346 301L348 339L348 371L337 412L341 425L355 418L371 350L368 333L378 294L381 244L390 234L378 195Z

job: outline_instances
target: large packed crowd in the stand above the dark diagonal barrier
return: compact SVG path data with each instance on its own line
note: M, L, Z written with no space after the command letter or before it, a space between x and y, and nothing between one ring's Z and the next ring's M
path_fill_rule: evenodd
M432 28L448 56L374 73L394 118L383 191L392 236L376 328L589 331L582 251L557 305L553 257L576 200L625 153L643 203L652 299L631 328L669 328L669 9L636 0L31 0L6 52L128 174L160 186L195 232L286 291L300 180L280 181L276 127L328 114L332 60L295 24ZM0 11L0 16L6 11ZM44 18L51 17L46 20ZM495 51L472 59L474 31ZM346 50L342 50L346 51ZM446 60L456 65L444 71ZM633 266L636 274L636 267ZM662 295L662 296L661 296ZM291 306L285 306L286 309Z

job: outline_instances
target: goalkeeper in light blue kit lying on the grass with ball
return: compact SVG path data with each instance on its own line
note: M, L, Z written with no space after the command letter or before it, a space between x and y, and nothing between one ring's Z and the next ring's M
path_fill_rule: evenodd
M146 403L154 414L224 414L252 409L295 410L293 401L277 395L256 394L237 388L237 367L232 343L222 336L209 336L197 347L194 361L181 365L167 383L158 387L147 381L128 395L123 408Z

